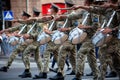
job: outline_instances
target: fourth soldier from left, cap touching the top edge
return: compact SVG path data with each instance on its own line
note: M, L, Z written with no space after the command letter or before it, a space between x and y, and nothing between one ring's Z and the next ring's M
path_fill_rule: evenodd
M66 8L72 7L74 4L72 0L65 0ZM73 10L68 10L67 14L75 14ZM59 19L56 18L56 20ZM63 19L64 20L64 19ZM60 28L59 30L62 32L65 32L69 34L69 31L74 28L74 22L75 20L69 20L67 27ZM75 45L71 44L69 41L65 41L59 48L59 54L58 54L58 71L57 74L54 77L51 77L51 80L63 80L64 79L64 65L65 65L65 59L68 55L70 63L72 65L72 72L69 75L75 74Z

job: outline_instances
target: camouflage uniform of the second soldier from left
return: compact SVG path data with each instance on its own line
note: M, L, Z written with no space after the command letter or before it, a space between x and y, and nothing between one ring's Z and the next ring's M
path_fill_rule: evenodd
M22 55L22 60L24 62L25 68L30 69L30 61L29 61L29 55L32 51L34 51L34 57L35 61L37 63L37 66L40 71L43 71L43 66L42 62L39 56L39 43L37 42L37 36L39 32L41 31L42 23L37 23L36 26L33 28L33 30L30 33L30 37L34 39L34 41L27 46L27 48L24 50L23 55Z

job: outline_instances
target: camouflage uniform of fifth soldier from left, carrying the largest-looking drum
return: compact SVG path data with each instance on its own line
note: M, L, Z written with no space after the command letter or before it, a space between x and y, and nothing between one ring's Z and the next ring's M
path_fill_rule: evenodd
M71 19L81 18L81 17L82 17L82 19L84 19L87 13L88 13L87 11L81 11L79 14L71 15L69 17ZM96 29L97 29L96 26L98 26L98 24L92 23L92 18L93 18L93 16L92 16L92 14L90 14L86 21L87 22L86 25L92 25L92 28L86 30L86 32L88 33L87 39L85 42L82 43L82 45L76 55L76 77L77 78L81 78L81 76L82 76L86 57L88 59L90 68L93 71L94 79L98 78L99 71L97 68L96 56L94 53L94 46L92 45L92 42L90 40L90 38L93 36L93 33L96 31Z

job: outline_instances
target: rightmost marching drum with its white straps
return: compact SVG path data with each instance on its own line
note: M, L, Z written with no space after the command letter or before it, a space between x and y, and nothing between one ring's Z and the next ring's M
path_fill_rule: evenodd
M113 14L111 15L111 18L109 19L109 21L107 23L107 27L110 26L115 13L116 13L116 11L114 11ZM101 26L101 28L103 28L104 26L105 26L105 20L104 20L104 23ZM101 29L100 31L96 32L95 35L92 37L92 43L97 47L100 47L103 44L108 43L112 38L112 35L110 35L110 34L103 34L102 33L103 30L104 29Z

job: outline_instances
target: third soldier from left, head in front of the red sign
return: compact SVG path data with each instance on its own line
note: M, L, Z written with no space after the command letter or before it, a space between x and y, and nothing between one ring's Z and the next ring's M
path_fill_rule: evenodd
M51 5L50 11L51 11L51 15L53 16L53 18L55 18L56 16L58 16L57 15L57 13L58 13L58 6L56 6L55 4ZM53 25L54 26L53 30L57 29L56 24ZM48 30L48 28L46 28L44 31L47 34L51 34L52 33L52 31ZM50 53L53 52L53 53L57 54L58 48L59 48L59 45L55 45L51 41L47 43L46 51L43 54L43 58L44 58L44 68L43 68L43 71L41 71L39 73L39 75L35 75L34 79L38 79L38 78L44 78L45 79L45 78L47 78L47 72L48 72L48 68L49 68Z

